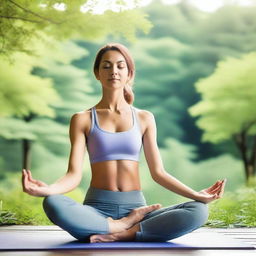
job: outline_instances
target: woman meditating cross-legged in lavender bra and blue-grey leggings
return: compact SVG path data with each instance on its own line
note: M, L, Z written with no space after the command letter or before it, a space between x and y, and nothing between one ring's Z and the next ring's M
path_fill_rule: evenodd
M199 228L208 217L207 203L222 196L226 180L196 192L165 171L153 114L132 106L135 67L125 46L102 47L94 74L102 85L102 98L71 118L66 175L47 185L23 170L24 192L45 197L49 219L83 241L167 241ZM81 181L85 145L92 179L79 204L62 194ZM146 205L139 180L142 146L153 180L193 201L165 208Z

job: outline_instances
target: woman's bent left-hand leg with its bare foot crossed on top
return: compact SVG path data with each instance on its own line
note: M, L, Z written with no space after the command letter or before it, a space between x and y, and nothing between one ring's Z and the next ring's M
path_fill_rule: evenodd
M118 220L105 217L89 205L81 205L64 195L48 196L43 201L48 218L79 240L87 241L92 234L120 233L129 230L160 204L133 209Z

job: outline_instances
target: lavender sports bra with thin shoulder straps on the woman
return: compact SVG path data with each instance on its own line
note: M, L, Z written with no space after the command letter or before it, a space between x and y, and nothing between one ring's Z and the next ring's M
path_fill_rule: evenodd
M131 106L133 126L128 131L108 132L99 126L97 112L92 108L92 125L87 137L87 150L91 163L108 160L139 161L142 134L135 109Z

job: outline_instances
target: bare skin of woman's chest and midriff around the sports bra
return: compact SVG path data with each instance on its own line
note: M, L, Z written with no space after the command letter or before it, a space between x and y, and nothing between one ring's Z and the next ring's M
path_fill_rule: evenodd
M141 136L146 130L147 111L138 110L137 117L140 124ZM91 110L80 112L84 119L85 137L91 128ZM132 126L130 112L110 113L108 110L97 109L98 121L101 129L109 132L127 131ZM111 191L140 190L139 163L131 160L110 160L91 164L91 186Z

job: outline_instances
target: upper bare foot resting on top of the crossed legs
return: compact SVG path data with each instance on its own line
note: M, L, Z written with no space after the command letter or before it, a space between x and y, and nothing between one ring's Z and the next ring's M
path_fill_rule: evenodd
M113 220L111 217L108 218L109 221L109 232L117 233L122 232L126 229L131 228L133 225L141 221L147 213L155 211L161 208L161 204L152 204L149 206L142 206L136 208L130 212L126 217L123 217L119 220Z

